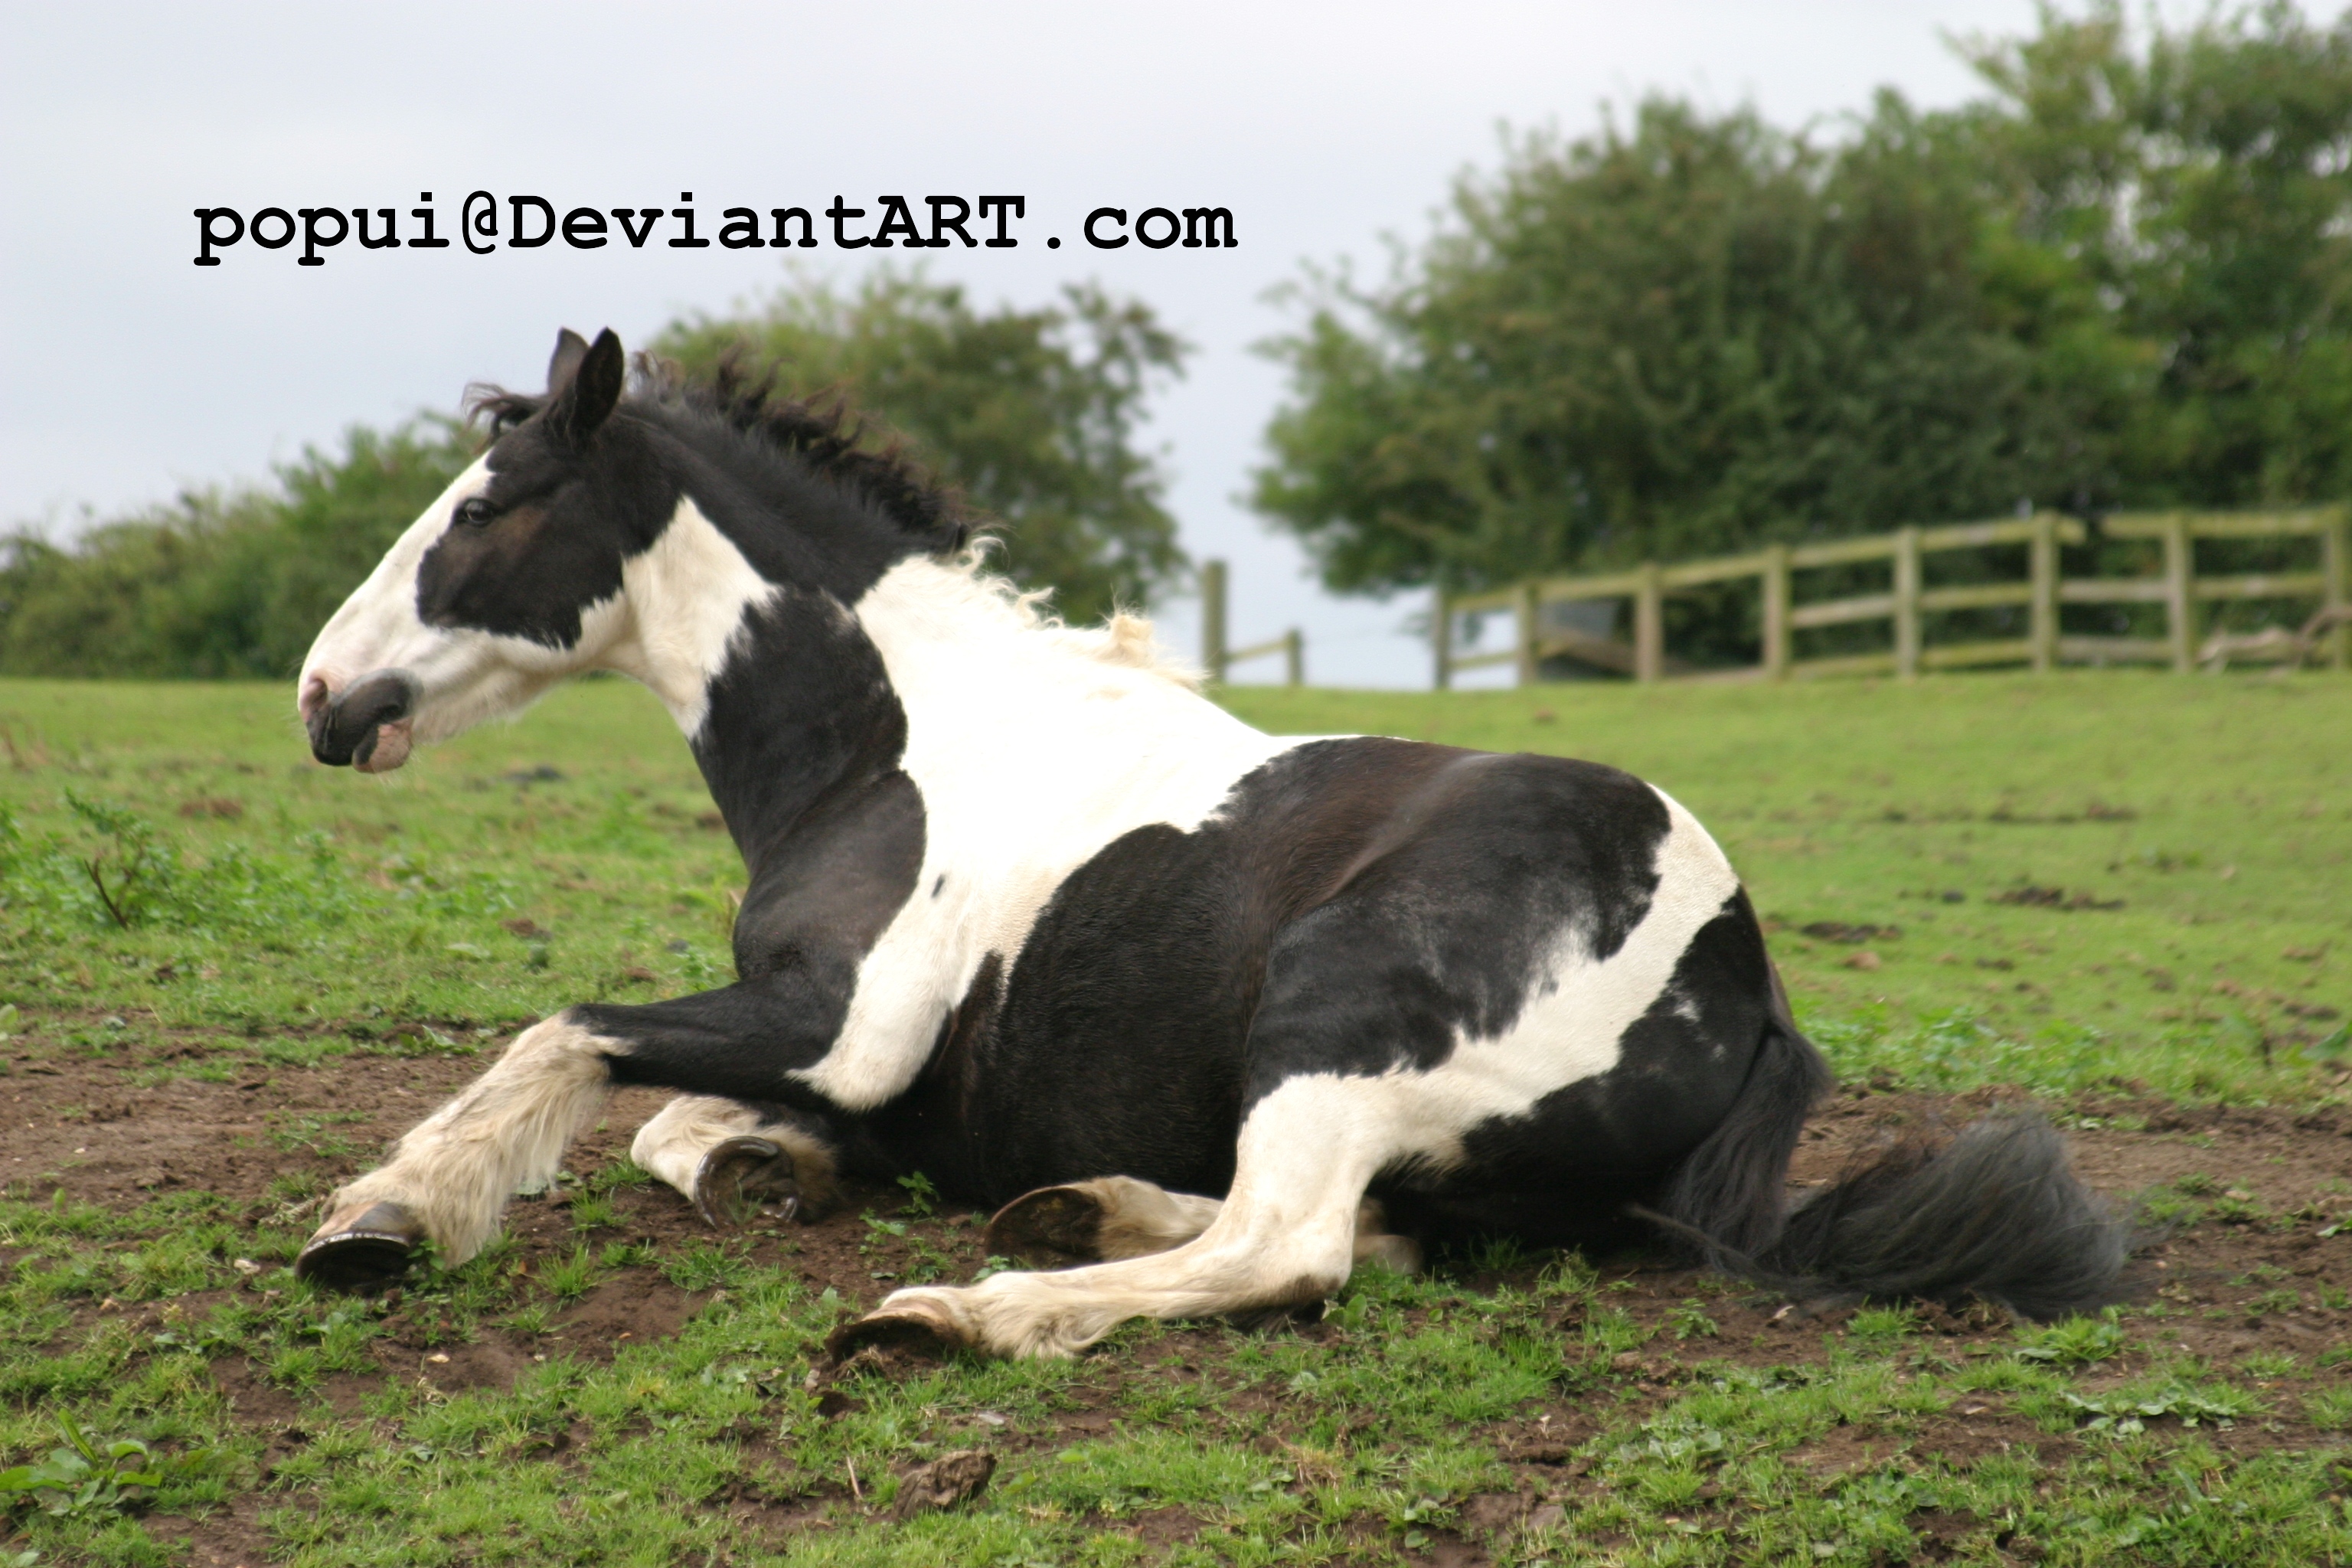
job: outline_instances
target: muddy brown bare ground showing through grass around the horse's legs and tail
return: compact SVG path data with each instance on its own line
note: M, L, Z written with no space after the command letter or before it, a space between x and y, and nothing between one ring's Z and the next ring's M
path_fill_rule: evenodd
M24 1044L0 1046L0 1056ZM487 1065L487 1058L346 1056L310 1070L254 1067L219 1084L174 1079L141 1086L136 1081L141 1070L153 1072L174 1053L202 1056L219 1044L226 1041L198 1034L151 1041L136 1060L127 1060L122 1053L87 1060L64 1051L16 1048L7 1063L9 1074L0 1077L0 1128L5 1128L0 1131L0 1182L21 1197L45 1199L61 1190L71 1199L118 1213L136 1208L158 1192L205 1190L245 1204L256 1222L287 1218L282 1197L270 1192L273 1182L285 1175L348 1178L442 1095ZM630 1133L661 1105L661 1098L652 1091L614 1095L607 1117L576 1147L572 1168L593 1171L609 1157L623 1154ZM1844 1159L1872 1140L1922 1124L1962 1124L1997 1098L1980 1093L1955 1100L1849 1086L1816 1114L1792 1180L1799 1185L1828 1180ZM2114 1119L2143 1121L2145 1131L2119 1131L2112 1126ZM2347 1234L2319 1234L2331 1218L2352 1211L2352 1187L2345 1182L2352 1175L2352 1112L2321 1110L2296 1117L2277 1110L2176 1107L2117 1098L2072 1105L2067 1121L2086 1124L2067 1126L2067 1140L2077 1168L2096 1187L2129 1197L2187 1178L2192 1190L2209 1192L2211 1201L2218 1204L2220 1218L2209 1213L2197 1225L2150 1241L2140 1253L2133 1265L2133 1291L2140 1300L2164 1300L2176 1312L2161 1324L2133 1324L2136 1338L2154 1349L2176 1347L2176 1354L2206 1356L2216 1371L2239 1368L2256 1352L2286 1352L2303 1363L2298 1375L2256 1380L2272 1396L2279 1410L2277 1420L2237 1422L2213 1432L2211 1441L2234 1453L2274 1443L2326 1446L2331 1439L2305 1427L2296 1410L2300 1410L2300 1394L2340 1385L2347 1375L2345 1368L2314 1371L2312 1363L2321 1352L2352 1342L2352 1312L2326 1305L2328 1300L2352 1300L2347 1298L2352 1291L2352 1227ZM287 1147L289 1143L294 1147ZM325 1145L327 1152L313 1145ZM280 1185L278 1192L282 1194L285 1187ZM903 1279L903 1248L908 1244L889 1239L877 1244L858 1215L863 1208L896 1213L901 1199L903 1194L896 1190L851 1192L851 1201L821 1222L748 1232L750 1255L757 1262L797 1272L811 1288L830 1286L847 1302L866 1307ZM614 1192L614 1206L619 1211L616 1229L600 1232L600 1237L687 1241L710 1234L684 1199L663 1187L623 1187ZM303 1220L294 1215L294 1222ZM508 1222L520 1241L520 1255L534 1272L543 1258L569 1255L579 1239L569 1225L564 1190L517 1201L508 1211ZM981 1267L976 1234L971 1215L948 1213L917 1222L913 1239L948 1253L969 1276L971 1269ZM14 1253L0 1248L0 1267L12 1260ZM1505 1281L1529 1284L1534 1272L1529 1265L1508 1276L1470 1274L1465 1284L1477 1288ZM1609 1300L1644 1324L1665 1324L1675 1307L1700 1286L1691 1272L1639 1255L1604 1260L1604 1276L1630 1286L1611 1293ZM268 1274L256 1276L242 1288L261 1291L266 1279ZM221 1293L176 1298L174 1307L202 1314L216 1295ZM381 1373L336 1375L322 1394L336 1410L355 1415L367 1394L386 1380L426 1380L447 1392L508 1387L520 1371L532 1366L534 1356L543 1359L550 1349L583 1359L609 1359L626 1338L673 1333L701 1305L701 1295L680 1291L656 1267L635 1267L607 1279L560 1312L550 1335L524 1338L485 1326L470 1345L452 1342L435 1324L419 1321L409 1307L395 1305L388 1335L374 1342ZM122 1312L134 1319L155 1319L162 1326L165 1302L96 1302L78 1314L78 1328L96 1312ZM1825 1319L1823 1314L1790 1312L1778 1298L1740 1293L1710 1295L1708 1314L1722 1333L1689 1347L1693 1363L1705 1359L1759 1366L1816 1361L1828 1354L1825 1331L1835 1328L1837 1321L1837 1314ZM2009 1324L1990 1312L1957 1316L1931 1312L1929 1324L1936 1333L1950 1335L1955 1349L1964 1347L1966 1340L2006 1342L2011 1333ZM1576 1333L1571 1321L1562 1321L1559 1328L1566 1335ZM1223 1326L1183 1331L1176 1338L1176 1349L1188 1359L1185 1368L1174 1375L1223 1380L1221 1361L1228 1333ZM1312 1340L1336 1331L1324 1324L1296 1324L1279 1328L1279 1333ZM1192 1354L1195 1349L1197 1354ZM1661 1335L1649 1349L1621 1356L1618 1371L1637 1378L1644 1399L1668 1401L1686 1375L1675 1359L1679 1349L1670 1335ZM2091 1368L2077 1387L2093 1392L2124 1382L2143 1373L2145 1366L2145 1354L2126 1354ZM974 1443L1018 1453L1021 1448L1101 1436L1112 1429L1110 1410L1120 1380L1129 1375L1124 1368L1105 1371L1108 1375L1094 1385L1096 1403L1082 1399L1077 1408L1065 1410L1058 1432L976 1429ZM1152 1366L1134 1368L1131 1375L1167 1378L1171 1373L1164 1366ZM299 1401L278 1389L256 1366L226 1356L214 1363L214 1378L233 1399L238 1418L270 1436L273 1453L292 1450L303 1441L294 1427ZM1284 1396L1237 1389L1237 1399L1265 1403ZM1609 1401L1606 1415L1623 1418L1625 1406ZM1515 1467L1519 1486L1512 1493L1470 1500L1463 1509L1461 1533L1439 1533L1432 1544L1435 1556L1428 1561L1484 1561L1477 1540L1519 1519L1541 1519L1541 1509L1550 1500L1583 1486L1573 1448L1597 1429L1599 1420L1597 1413L1562 1396L1543 1408L1526 1408L1508 1429L1486 1432L1484 1436ZM1903 1446L1945 1453L1955 1460L2004 1446L2037 1448L2058 1460L2070 1443L2070 1436L2049 1434L2013 1413L2002 1394L1962 1403L1931 1422L1924 1434L1903 1439ZM1797 1460L1820 1474L1835 1474L1856 1465L1875 1465L1893 1446L1896 1441L1884 1434L1842 1427L1832 1439L1799 1450ZM781 1533L788 1533L795 1516L814 1505L823 1505L823 1500L781 1507L746 1495L731 1502L736 1512L760 1516L762 1523L771 1523ZM266 1549L254 1523L259 1507L259 1497L245 1495L202 1523L179 1526L179 1521L155 1519L151 1528L158 1535L186 1528L193 1547L191 1561L198 1566L259 1563ZM1183 1540L1192 1521L1174 1516L1176 1512L1167 1514L1171 1516L1145 1514L1127 1521L1127 1528L1141 1530L1150 1542Z

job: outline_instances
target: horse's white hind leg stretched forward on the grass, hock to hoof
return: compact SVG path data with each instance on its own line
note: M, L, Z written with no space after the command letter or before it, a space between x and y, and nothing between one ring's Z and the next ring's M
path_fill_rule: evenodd
M1411 1152L1406 1095L1392 1079L1291 1079L1242 1121L1232 1192L1183 1246L1054 1274L896 1291L844 1331L840 1347L917 1333L1002 1356L1065 1356L1131 1316L1322 1300L1355 1265L1367 1182Z

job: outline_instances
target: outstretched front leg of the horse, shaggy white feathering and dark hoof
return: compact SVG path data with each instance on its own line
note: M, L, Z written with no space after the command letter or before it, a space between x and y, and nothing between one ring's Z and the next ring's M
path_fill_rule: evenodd
M482 1251L506 1199L543 1187L564 1147L612 1093L621 1041L557 1013L532 1025L499 1063L393 1147L393 1157L327 1199L327 1222L294 1272L334 1288L397 1276L419 1244L442 1262Z

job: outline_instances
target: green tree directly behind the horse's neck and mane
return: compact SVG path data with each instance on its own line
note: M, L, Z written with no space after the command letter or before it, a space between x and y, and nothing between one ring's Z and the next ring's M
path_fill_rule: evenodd
M1000 567L1051 588L1070 621L1145 604L1183 567L1167 480L1136 430L1185 346L1138 301L1070 287L1058 306L981 313L957 284L880 270L851 294L783 289L654 341L687 369L729 348L793 393L844 395L873 416L868 440L903 440L1000 524Z

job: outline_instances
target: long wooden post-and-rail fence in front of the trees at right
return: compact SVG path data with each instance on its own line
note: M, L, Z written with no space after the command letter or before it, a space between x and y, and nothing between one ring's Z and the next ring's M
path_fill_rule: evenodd
M1757 665L1703 670L1682 679L1790 679L1806 675L1900 675L1922 670L1962 670L1971 665L2023 663L2051 670L2060 663L2169 663L2192 670L2197 663L2199 609L2225 599L2312 599L2319 607L2347 604L2352 571L2352 527L2340 505L2296 512L2164 512L2107 517L2105 538L2161 541L2161 569L2147 576L2060 576L2058 548L2086 543L2084 524L2056 512L2034 512L2002 522L1964 522L1950 527L1910 527L1875 538L1842 538L1818 545L1771 545L1750 555L1712 562L1661 567L1656 562L1630 571L1597 576L1559 576L1519 583L1498 592L1439 597L1432 616L1437 686L1451 686L1458 670L1515 665L1519 684L1534 684L1545 658L1566 656L1635 679L1675 679L1665 651L1665 599L1677 590L1712 583L1759 578L1764 599L1764 656ZM2270 571L2237 576L2199 576L2199 538L2319 538L2317 571ZM1943 550L1980 550L1987 545L2025 545L2025 578L2002 583L1959 583L1926 588L1922 562ZM1865 592L1842 599L1799 604L1792 574L1856 562L1893 562L1889 592ZM1548 604L1632 599L1632 642L1597 637L1566 628L1545 628ZM1924 618L1936 611L2025 607L2025 637L1997 642L1959 642L1929 646ZM2058 630L2060 604L2161 604L2164 637L2065 637ZM1465 654L1456 646L1456 621L1465 614L1508 611L1512 646L1491 654ZM1839 654L1795 658L1795 632L1823 625L1867 621L1893 623L1893 646L1877 654ZM2338 628L2326 639L2326 661L2338 670L2352 665L2352 628Z

